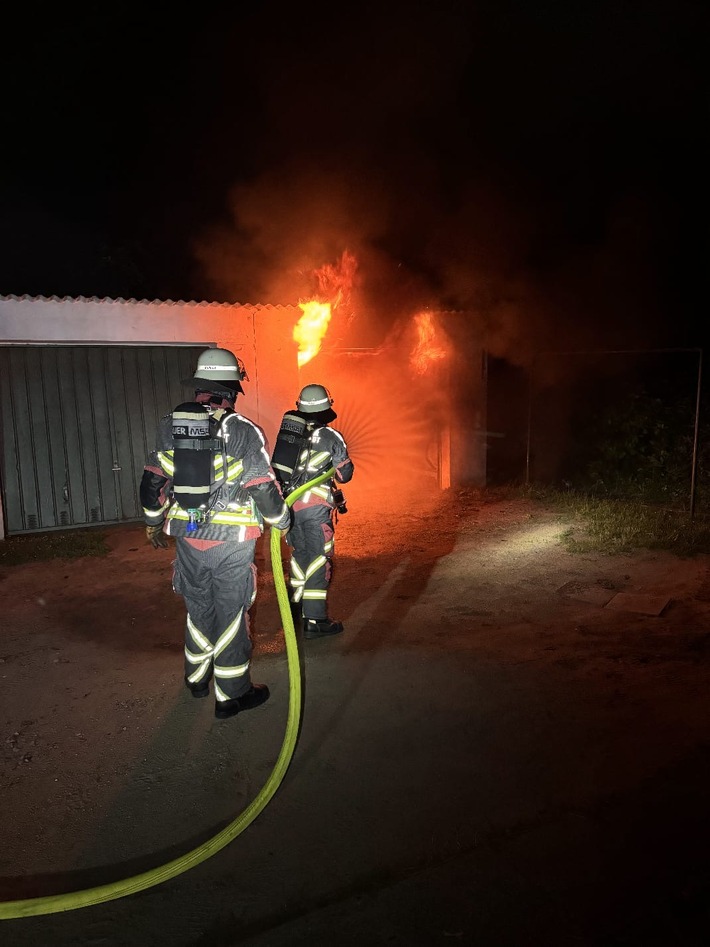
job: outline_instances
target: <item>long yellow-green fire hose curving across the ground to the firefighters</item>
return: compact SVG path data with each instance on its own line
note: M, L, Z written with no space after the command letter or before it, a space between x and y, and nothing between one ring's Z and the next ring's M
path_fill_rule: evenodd
M293 502L307 490L311 490L325 480L330 480L334 473L335 470L331 467L324 474L315 477L313 480L310 480L308 483L294 490L286 502L291 506ZM92 904L101 904L104 901L115 901L118 898L125 898L129 894L137 894L139 891L145 891L146 888L152 888L155 885L162 884L164 881L175 878L177 875L181 875L190 868L194 868L195 865L199 865L201 862L216 855L217 852L225 848L240 835L244 829L254 821L259 813L266 808L286 775L286 770L289 767L293 751L296 747L301 717L301 675L298 645L293 627L288 592L283 577L281 535L281 530L271 530L270 553L274 584L276 586L276 598L278 599L279 611L283 622L286 655L288 658L288 719L286 721L284 741L281 745L281 751L276 760L276 765L271 771L271 775L259 795L233 822L230 822L226 828L222 829L221 832L198 848L187 852L185 855L181 855L179 858L175 858L173 861L159 865L157 868L151 868L150 871L145 871L140 875L134 875L132 878L123 878L119 881L113 881L110 884L98 885L95 888L86 888L83 891L69 891L65 894L48 895L42 898L27 898L22 901L2 901L0 902L0 920L7 920L14 917L31 917L38 914L57 914L60 911L73 911L76 908L85 908Z

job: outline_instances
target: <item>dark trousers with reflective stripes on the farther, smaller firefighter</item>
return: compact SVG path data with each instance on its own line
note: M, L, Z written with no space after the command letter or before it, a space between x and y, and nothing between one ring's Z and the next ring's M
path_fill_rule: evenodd
M333 511L324 505L296 510L286 534L291 546L291 601L301 602L304 618L328 617L328 586L333 573Z

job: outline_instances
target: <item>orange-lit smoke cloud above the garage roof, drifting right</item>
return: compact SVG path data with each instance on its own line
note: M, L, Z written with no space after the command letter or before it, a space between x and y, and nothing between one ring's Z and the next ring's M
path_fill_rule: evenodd
M642 198L610 208L602 240L565 246L549 206L516 201L493 175L450 210L427 172L397 181L363 165L291 162L235 187L232 223L195 247L211 295L293 304L347 251L357 260L351 344L377 344L422 308L460 311L464 336L519 365L560 345L637 344L640 317L648 344L658 287Z

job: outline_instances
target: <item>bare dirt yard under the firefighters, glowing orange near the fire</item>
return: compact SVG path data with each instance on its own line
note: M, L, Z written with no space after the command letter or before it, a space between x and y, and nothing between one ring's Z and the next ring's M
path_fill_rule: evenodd
M227 848L139 894L0 920L24 945L710 943L707 557L573 555L530 500L351 504L331 614L301 642L303 725ZM93 887L211 838L284 736L289 670L260 544L253 678L217 721L182 686L172 550L3 568L0 900Z

